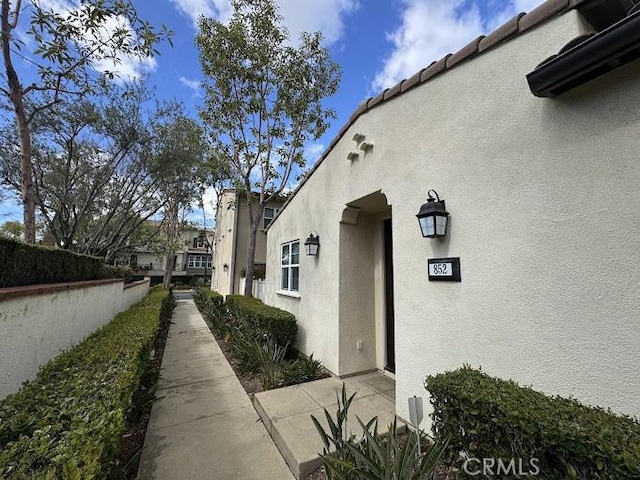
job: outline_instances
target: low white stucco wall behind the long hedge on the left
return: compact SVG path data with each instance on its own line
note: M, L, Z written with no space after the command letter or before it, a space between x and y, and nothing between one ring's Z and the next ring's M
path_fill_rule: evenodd
M0 300L0 399L140 301L149 279L126 287L121 280L99 280L0 289L7 291L14 292Z

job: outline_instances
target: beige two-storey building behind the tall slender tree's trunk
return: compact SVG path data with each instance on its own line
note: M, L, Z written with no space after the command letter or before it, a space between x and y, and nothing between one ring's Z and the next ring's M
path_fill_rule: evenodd
M283 201L271 202L264 209L262 228L256 238L255 266L264 271L267 250L265 229L282 208ZM216 233L213 240L214 259L211 288L222 295L243 293L240 279L244 277L249 246L249 212L247 198L234 189L222 192L216 212Z

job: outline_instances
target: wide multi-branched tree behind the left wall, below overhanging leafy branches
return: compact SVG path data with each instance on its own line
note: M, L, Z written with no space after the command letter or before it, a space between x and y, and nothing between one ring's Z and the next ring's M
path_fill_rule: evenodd
M144 241L137 231L164 205L148 124L164 112L143 111L147 100L143 85L131 85L126 94L61 101L34 118L34 203L59 247L111 261ZM0 138L10 146L0 151L0 180L19 192L15 129L5 125Z

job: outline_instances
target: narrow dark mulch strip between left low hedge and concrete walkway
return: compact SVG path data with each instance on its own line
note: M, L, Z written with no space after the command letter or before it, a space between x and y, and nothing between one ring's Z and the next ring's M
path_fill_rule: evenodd
M171 322L165 322L160 324L158 328L151 352L151 360L142 376L140 388L133 395L129 426L122 435L120 453L111 465L111 470L107 476L109 480L133 480L138 475L140 454L142 453L147 423L149 422L151 407L155 398L155 387L160 377L160 364L162 363L162 355L164 354L170 326Z

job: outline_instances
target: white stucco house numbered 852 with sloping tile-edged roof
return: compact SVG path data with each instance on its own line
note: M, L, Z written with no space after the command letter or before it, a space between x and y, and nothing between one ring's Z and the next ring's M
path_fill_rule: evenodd
M303 353L388 372L404 418L464 363L640 415L632 7L547 1L358 106L268 229L266 303L296 315ZM443 238L416 218L431 189ZM460 281L429 280L441 258Z

